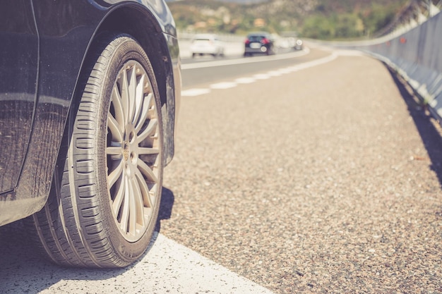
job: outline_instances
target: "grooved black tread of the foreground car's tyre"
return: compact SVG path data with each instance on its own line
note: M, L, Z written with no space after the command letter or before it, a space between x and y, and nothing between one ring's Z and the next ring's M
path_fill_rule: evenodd
M112 54L129 39L128 36L113 36L98 44L97 53L90 59L93 61L90 64L94 66L87 70L87 82L72 125L68 156L59 159L59 164L64 166L63 172L60 179L54 175L55 184L44 209L29 219L35 225L34 235L40 240L42 251L57 264L71 267L125 267L133 261L117 255L107 237L99 209L95 164L95 126L100 123L96 114L102 107L102 80ZM69 154L75 159L73 162L70 162ZM59 180L60 188L56 188Z

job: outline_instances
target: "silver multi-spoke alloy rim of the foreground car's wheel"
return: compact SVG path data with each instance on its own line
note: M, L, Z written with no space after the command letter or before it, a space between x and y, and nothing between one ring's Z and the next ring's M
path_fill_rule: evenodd
M143 66L128 61L112 88L107 116L107 187L121 235L139 240L157 207L161 142L155 94Z

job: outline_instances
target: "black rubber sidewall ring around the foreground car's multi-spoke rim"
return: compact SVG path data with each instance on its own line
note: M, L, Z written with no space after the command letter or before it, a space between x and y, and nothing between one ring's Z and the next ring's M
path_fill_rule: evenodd
M150 239L153 235L153 230L155 228L155 223L157 221L158 210L160 207L161 189L162 189L162 163L163 163L163 138L162 138L162 123L161 123L161 108L159 102L159 93L157 90L157 84L155 81L155 75L153 73L153 68L150 66L150 61L148 61L148 56L144 53L142 47L129 36L120 36L124 40L117 42L117 46L114 47L112 51L109 63L105 66L105 74L103 80L102 91L99 94L100 109L97 116L97 141L96 141L96 159L97 159L97 195L98 201L100 202L100 214L102 214L103 228L106 231L107 238L109 238L110 244L114 247L114 252L116 252L121 259L126 259L127 264L133 262L133 259L141 256L145 252ZM118 38L117 38L118 39ZM107 115L110 107L110 97L112 94L112 89L114 83L117 81L119 71L122 66L129 61L134 60L140 63L145 72L148 74L149 82L152 85L153 92L155 95L155 104L157 108L158 121L160 126L160 148L161 152L159 154L160 159L158 167L158 192L156 201L153 208L153 216L150 219L148 228L143 234L143 236L136 242L129 242L121 235L121 232L114 220L114 215L112 213L112 201L107 185L107 158L106 158L106 137L107 137Z

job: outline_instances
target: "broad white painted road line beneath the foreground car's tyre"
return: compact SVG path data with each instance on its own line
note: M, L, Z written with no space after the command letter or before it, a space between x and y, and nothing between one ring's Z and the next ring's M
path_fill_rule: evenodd
M40 294L273 294L165 235L155 233L154 238L155 242L143 259L118 274L88 270L64 276L61 272L58 274L59 282L42 290Z

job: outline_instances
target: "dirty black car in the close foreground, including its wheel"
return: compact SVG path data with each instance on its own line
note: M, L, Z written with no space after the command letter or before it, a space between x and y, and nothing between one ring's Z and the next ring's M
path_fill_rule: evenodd
M0 4L0 225L49 259L125 267L152 238L181 73L164 0Z

